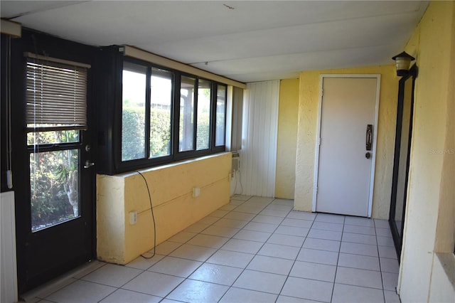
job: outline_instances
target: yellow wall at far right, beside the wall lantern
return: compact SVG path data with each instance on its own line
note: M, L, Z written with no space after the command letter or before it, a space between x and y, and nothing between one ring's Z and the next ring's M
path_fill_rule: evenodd
M398 291L402 302L454 302L454 1L431 1L405 50L419 75Z

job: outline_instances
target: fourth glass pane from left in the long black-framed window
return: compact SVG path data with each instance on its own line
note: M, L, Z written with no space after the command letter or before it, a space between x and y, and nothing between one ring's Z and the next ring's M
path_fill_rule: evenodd
M199 80L198 85L198 126L196 149L208 149L210 147L210 87L212 83L207 80Z

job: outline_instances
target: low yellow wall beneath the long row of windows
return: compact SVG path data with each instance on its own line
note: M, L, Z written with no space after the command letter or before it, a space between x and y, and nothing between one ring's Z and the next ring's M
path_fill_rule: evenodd
M156 244L229 203L231 154L141 171L149 184ZM200 196L192 197L193 187ZM129 212L137 211L137 224ZM154 247L149 194L137 173L97 176L97 257L126 264Z

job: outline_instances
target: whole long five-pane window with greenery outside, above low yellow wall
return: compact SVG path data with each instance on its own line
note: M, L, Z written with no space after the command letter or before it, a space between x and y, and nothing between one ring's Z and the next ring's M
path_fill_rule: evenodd
M125 59L122 170L224 151L227 88Z

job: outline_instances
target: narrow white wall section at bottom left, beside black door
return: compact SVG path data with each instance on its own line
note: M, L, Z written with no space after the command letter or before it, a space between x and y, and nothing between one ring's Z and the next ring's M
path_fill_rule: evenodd
M0 194L0 302L17 302L16 226L14 191Z

